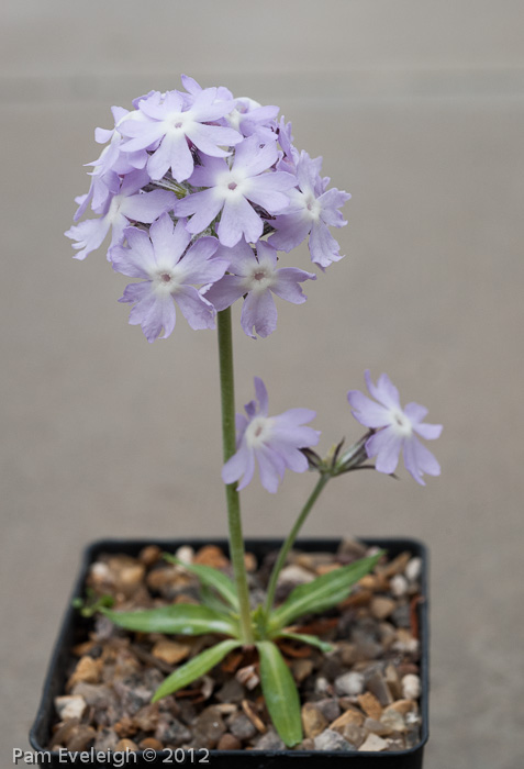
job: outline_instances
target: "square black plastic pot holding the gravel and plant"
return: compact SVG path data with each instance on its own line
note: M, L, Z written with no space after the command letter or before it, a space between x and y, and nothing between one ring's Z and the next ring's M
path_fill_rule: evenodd
M335 753L326 750L181 750L170 751L144 751L124 756L125 761L111 762L110 754L104 751L103 760L96 760L96 753L91 754L94 761L87 762L86 751L76 757L73 754L60 755L58 751L46 749L52 733L52 725L55 720L54 698L64 692L66 682L66 669L70 659L70 649L85 638L86 621L79 616L78 612L71 608L66 611L64 622L55 645L47 677L44 682L42 700L36 714L36 718L30 732L30 742L34 750L40 756L41 767L52 767L62 769L67 766L91 766L91 767L160 767L177 765L208 764L211 769L421 769L424 753L424 745L428 737L428 616L427 616L427 551L424 545L414 539L377 539L364 537L361 539L367 545L383 547L390 557L394 557L404 550L410 550L414 556L422 558L421 593L423 600L417 604L419 632L421 644L421 680L422 694L420 709L422 715L421 742L413 748L400 750L398 753ZM136 556L147 545L158 545L165 550L175 551L181 545L190 545L194 548L201 547L202 539L183 540L120 540L108 539L96 542L86 548L83 561L78 577L73 598L83 594L83 586L87 572L101 553L124 553ZM219 547L227 551L225 539L215 540ZM276 539L248 539L246 549L263 558L267 553L277 549L280 542ZM339 545L338 539L299 539L297 548L304 551L335 551ZM89 753L89 751L88 751ZM208 756L205 756L208 754ZM116 758L116 755L115 755ZM207 761L202 760L205 759Z

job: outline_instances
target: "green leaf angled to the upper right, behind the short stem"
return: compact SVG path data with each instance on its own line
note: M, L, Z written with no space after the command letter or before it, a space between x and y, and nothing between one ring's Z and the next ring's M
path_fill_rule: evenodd
M288 599L274 612L269 621L271 634L290 625L299 616L323 612L347 598L349 588L375 567L383 550L369 558L360 558L354 564L328 571L312 582L299 584Z

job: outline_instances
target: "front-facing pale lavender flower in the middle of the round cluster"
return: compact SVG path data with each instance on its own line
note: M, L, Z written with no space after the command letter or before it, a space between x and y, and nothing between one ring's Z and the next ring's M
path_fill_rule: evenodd
M198 233L222 212L216 234L223 246L235 246L242 236L255 243L264 232L264 222L250 203L270 214L283 211L289 204L287 190L297 183L291 174L265 172L277 158L275 143L260 148L255 136L236 147L231 169L223 159L205 158L189 183L208 189L179 200L175 215L191 216L188 230Z

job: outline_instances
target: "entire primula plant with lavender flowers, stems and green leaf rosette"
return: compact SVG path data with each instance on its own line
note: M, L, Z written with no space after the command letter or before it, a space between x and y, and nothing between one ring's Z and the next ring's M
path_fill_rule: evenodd
M276 640L293 638L324 651L330 644L294 632L305 614L323 612L349 593L381 556L364 558L297 587L275 605L279 573L296 537L327 481L360 468L394 473L400 453L417 483L439 466L420 442L437 438L441 425L423 422L417 403L402 408L398 390L383 374L371 398L347 393L352 413L367 430L353 446L343 442L327 457L314 450L315 412L293 408L271 415L266 387L255 377L255 400L236 414L231 305L242 303L247 336L267 337L277 327L280 300L301 304L302 286L316 274L286 266L286 256L308 239L311 260L323 272L342 259L331 230L346 224L339 211L347 192L328 187L322 158L293 145L291 124L277 107L235 99L226 88L201 88L182 77L185 90L152 91L131 111L113 108L114 127L97 129L107 146L92 166L87 194L77 200L76 224L66 233L83 259L111 231L108 259L113 269L136 279L121 302L131 304L130 323L148 342L168 337L177 309L191 328L216 328L222 399L224 465L233 579L218 569L182 564L202 587L200 605L180 604L135 612L99 609L131 631L222 636L214 646L178 667L155 693L158 700L203 676L237 647L254 646L269 715L283 742L302 739L299 694ZM91 208L92 219L81 218ZM281 266L282 265L282 266ZM369 460L375 458L375 465ZM264 604L249 601L244 562L239 491L258 473L275 493L287 469L317 473L317 481L285 540L269 579ZM166 555L167 559L177 559Z

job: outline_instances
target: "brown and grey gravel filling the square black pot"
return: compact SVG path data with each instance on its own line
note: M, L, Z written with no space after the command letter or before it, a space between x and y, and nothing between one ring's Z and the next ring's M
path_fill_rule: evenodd
M215 546L182 547L177 555L231 575L228 559ZM255 605L264 601L276 555L257 564L246 554ZM366 555L372 548L353 540L343 542L336 554L292 551L277 602L297 584ZM304 616L294 629L332 643L328 654L279 642L302 702L304 739L293 749L395 751L420 743L420 559L410 553L384 557L336 609ZM164 560L156 546L137 558L100 556L88 587L125 611L200 599L198 580ZM232 651L187 689L150 703L166 676L214 642L213 635L125 632L98 615L71 649L65 691L55 698L49 749L283 749L265 707L253 649Z

